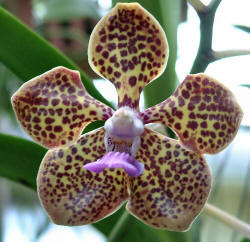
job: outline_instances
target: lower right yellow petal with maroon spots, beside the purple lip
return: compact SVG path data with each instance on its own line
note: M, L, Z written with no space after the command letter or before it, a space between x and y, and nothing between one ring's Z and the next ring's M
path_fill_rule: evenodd
M127 209L160 229L187 230L207 201L211 174L202 155L145 128L136 159L141 176L130 178Z

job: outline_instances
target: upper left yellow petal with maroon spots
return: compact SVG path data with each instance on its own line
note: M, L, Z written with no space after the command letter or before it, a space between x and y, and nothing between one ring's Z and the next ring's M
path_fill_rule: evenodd
M47 148L74 142L90 121L107 120L113 113L87 93L78 71L65 67L26 82L11 101L24 130Z

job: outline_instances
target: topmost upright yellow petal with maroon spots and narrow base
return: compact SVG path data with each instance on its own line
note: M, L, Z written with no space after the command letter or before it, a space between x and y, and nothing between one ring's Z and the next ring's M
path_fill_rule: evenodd
M88 57L93 70L115 85L118 106L138 109L142 89L165 69L168 43L141 5L118 3L94 28Z

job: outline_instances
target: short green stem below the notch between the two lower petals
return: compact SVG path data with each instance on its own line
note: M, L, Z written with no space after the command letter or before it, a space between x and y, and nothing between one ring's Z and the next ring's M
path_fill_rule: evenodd
M112 229L107 242L117 242L121 240L121 237L127 232L129 229L128 224L131 225L132 216L125 210L121 218L116 223L115 227ZM123 233L120 233L123 231Z

